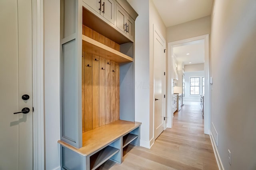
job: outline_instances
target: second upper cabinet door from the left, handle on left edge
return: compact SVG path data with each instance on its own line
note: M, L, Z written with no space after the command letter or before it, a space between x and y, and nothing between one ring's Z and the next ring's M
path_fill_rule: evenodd
M101 15L114 24L114 1L102 0Z

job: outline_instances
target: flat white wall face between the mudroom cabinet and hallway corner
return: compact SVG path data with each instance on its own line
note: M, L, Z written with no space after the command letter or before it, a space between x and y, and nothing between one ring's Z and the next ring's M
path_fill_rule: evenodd
M128 0L139 14L135 21L135 121L142 122L141 146L150 147L149 2Z

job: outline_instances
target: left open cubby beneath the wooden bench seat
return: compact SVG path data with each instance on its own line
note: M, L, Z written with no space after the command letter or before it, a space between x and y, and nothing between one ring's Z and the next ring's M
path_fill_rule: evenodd
M114 156L114 154L116 154L117 152L119 152L119 149L112 146L106 146L99 152L96 152L95 154L90 156L90 170L95 170L101 164L106 162L109 158Z

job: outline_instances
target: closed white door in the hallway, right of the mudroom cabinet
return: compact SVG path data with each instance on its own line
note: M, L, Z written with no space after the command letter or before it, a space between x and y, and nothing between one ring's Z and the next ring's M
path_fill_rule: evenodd
M154 28L154 140L163 132L165 124L165 40Z

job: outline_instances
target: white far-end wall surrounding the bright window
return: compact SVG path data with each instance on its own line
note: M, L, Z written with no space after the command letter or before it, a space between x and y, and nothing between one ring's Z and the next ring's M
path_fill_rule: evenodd
M184 101L200 101L200 95L190 95L190 77L199 77L199 90L202 94L202 77L204 77L204 71L197 72L185 72L185 96L183 97Z

